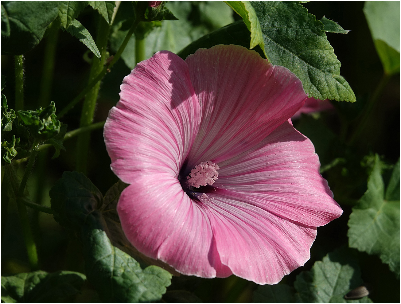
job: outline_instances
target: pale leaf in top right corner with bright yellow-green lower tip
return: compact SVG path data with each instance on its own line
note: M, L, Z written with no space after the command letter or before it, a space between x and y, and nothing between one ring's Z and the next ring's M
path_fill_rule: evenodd
M363 8L377 53L389 74L400 71L400 2L366 1Z

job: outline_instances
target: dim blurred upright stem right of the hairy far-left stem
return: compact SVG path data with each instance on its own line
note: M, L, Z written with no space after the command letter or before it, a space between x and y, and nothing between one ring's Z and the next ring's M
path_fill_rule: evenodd
M53 71L56 57L57 39L59 36L59 24L53 22L50 34L47 36L41 90L39 93L39 106L45 107L50 103L51 86L53 83Z

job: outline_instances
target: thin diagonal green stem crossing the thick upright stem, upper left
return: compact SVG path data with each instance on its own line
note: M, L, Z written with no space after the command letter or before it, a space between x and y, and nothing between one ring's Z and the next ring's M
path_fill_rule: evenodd
M123 43L119 47L117 53L115 53L115 55L114 55L113 59L110 61L109 65L105 66L103 68L103 70L85 87L85 89L83 89L83 91L81 93L79 93L79 95L77 97L75 97L63 110L60 111L60 113L57 115L57 119L60 119L61 117L63 117L65 115L65 113L67 113L70 109L72 109L74 107L74 105L76 105L92 89L92 87L94 85L96 85L96 83L98 83L104 77L104 75L106 75L107 69L111 69L111 67L113 67L113 65L117 62L117 60L120 58L121 54L123 53L125 47L128 44L128 41L130 41L130 38L131 38L132 34L134 33L134 30L135 30L136 26L138 25L138 23L139 23L139 20L136 20L134 22L134 24L132 24Z

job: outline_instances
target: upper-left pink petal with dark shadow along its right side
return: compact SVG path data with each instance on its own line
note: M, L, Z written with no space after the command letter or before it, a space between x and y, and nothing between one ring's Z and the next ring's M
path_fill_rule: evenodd
M104 126L111 169L130 184L142 172L178 172L198 132L201 108L188 67L161 51L138 63L121 85Z

